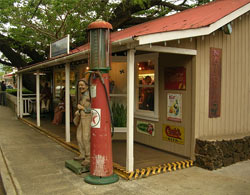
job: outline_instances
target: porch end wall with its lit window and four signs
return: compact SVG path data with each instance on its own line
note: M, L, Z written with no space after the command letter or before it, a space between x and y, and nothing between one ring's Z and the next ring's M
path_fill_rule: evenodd
M135 61L135 141L191 158L192 57L155 53Z

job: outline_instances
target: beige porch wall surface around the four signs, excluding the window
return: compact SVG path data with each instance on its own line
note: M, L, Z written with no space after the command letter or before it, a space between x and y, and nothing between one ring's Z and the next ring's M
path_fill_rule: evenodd
M195 42L193 42L194 44ZM191 56L176 55L176 54L160 54L159 56L159 121L150 121L155 124L155 136L149 136L136 131L135 127L135 141L150 145L155 148L170 151L179 155L191 157L191 143L192 143L192 103L191 103L191 70L192 70ZM164 89L164 69L166 67L181 66L186 68L187 89L186 90L165 90ZM174 122L167 120L167 94L177 93L182 94L182 121ZM135 126L137 119L135 117ZM184 144L177 144L163 140L162 126L174 125L183 127L185 131Z

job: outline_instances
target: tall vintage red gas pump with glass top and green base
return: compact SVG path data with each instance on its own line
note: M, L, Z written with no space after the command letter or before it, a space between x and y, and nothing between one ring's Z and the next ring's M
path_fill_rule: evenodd
M88 26L91 74L90 175L85 182L109 184L119 180L113 173L111 113L109 108L110 23L98 20Z

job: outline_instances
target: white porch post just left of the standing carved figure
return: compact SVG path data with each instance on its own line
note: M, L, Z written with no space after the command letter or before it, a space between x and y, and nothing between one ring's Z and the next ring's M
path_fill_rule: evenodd
M70 142L70 64L65 65L65 139Z

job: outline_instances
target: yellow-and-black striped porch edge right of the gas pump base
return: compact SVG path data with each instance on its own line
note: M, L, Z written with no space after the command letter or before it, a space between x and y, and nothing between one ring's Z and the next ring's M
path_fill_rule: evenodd
M166 163L163 165L136 169L135 171L127 172L124 167L114 163L114 172L127 180L133 180L133 179L145 178L145 177L160 174L160 173L166 173L166 172L176 171L179 169L185 169L188 167L192 167L193 165L194 165L194 162L192 160L183 160L179 162Z

